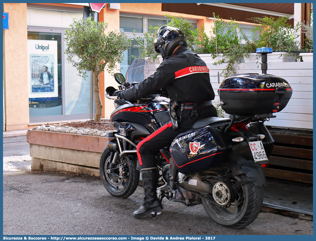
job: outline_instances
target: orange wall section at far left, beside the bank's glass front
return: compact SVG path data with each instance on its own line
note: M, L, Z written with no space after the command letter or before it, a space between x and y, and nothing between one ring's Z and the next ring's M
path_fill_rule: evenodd
M6 131L27 129L27 4L3 3L9 29L3 30L3 84Z

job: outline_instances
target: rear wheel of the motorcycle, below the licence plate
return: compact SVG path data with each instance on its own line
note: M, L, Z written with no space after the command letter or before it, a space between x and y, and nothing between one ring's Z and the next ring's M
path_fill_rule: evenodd
M221 188L225 191L225 184ZM248 226L257 218L261 210L263 189L253 185L252 182L245 183L238 191L236 199L229 202L228 208L222 208L202 198L205 211L216 223L231 228Z

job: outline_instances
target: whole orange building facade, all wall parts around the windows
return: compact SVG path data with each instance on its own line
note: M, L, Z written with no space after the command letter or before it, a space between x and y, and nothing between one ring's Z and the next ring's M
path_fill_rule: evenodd
M80 5L63 3L37 3L50 6L80 8ZM4 12L9 12L9 30L3 32L3 71L4 71L4 103L6 116L6 131L29 128L28 108L28 78L27 78L27 4L4 3ZM99 21L108 23L107 31L119 30L120 13L164 16L161 3L121 3L120 10L105 8L99 14ZM166 12L172 16L178 13ZM197 19L198 26L204 24L210 29L212 20L203 16L185 15L185 18ZM119 67L119 65L118 65ZM119 72L119 71L117 71ZM107 71L99 77L100 95L103 104L103 118L109 118L114 110L113 101L105 99L104 91L107 86L118 87L118 83Z

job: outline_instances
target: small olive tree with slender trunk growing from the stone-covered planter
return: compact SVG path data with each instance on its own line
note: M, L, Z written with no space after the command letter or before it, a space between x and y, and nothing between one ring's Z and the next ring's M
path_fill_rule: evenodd
M71 30L65 30L64 40L67 59L77 68L79 76L87 77L92 71L94 79L94 100L96 113L94 121L99 122L102 115L102 103L99 91L99 74L106 69L109 73L122 62L123 52L131 43L123 32L104 33L108 24L95 22L92 18L74 19Z

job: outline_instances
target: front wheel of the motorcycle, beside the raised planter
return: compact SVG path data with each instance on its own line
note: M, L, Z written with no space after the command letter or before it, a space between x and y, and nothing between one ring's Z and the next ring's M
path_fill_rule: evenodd
M102 183L112 196L121 198L129 197L134 193L139 182L139 171L136 169L137 163L127 160L125 156L119 157L118 155L115 167L110 170L109 166L112 162L110 154L111 152L106 147L100 158L100 177Z

